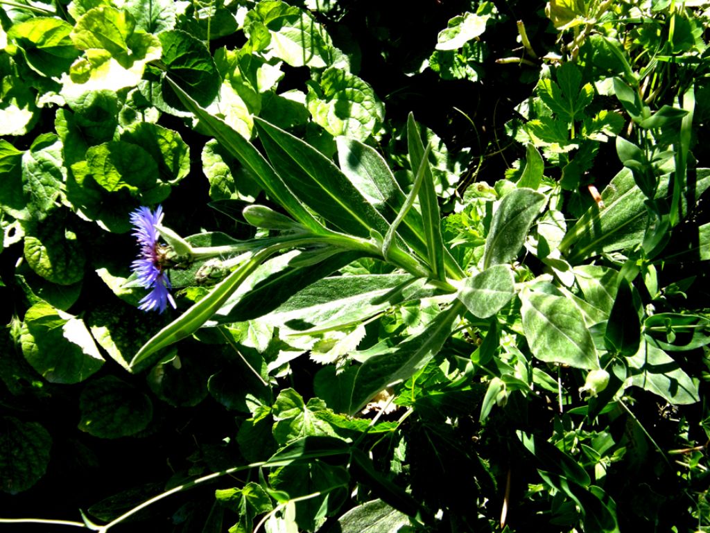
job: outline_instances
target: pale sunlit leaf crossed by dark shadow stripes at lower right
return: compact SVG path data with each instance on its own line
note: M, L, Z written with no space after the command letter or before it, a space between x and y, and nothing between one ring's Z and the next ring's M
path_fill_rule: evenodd
M697 385L672 357L660 348L642 343L638 353L626 358L631 385L653 392L673 405L700 401Z

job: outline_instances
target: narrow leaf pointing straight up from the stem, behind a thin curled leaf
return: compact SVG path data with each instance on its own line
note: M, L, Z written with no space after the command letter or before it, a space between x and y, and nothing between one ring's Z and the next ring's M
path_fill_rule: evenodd
M407 144L409 148L409 162L413 169L418 169L424 165L424 177L419 188L419 204L422 209L422 222L427 242L427 257L429 267L434 275L443 280L444 273L444 241L441 231L441 212L437 193L434 189L434 177L429 166L429 161L422 159L427 157L425 153L422 136L414 121L414 115L409 114L407 119Z

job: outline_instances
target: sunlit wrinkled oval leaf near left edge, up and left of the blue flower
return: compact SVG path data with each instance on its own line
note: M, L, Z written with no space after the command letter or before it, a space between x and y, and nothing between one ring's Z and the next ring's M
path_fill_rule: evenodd
M23 195L30 216L42 220L59 197L66 171L62 143L53 133L43 133L22 155Z

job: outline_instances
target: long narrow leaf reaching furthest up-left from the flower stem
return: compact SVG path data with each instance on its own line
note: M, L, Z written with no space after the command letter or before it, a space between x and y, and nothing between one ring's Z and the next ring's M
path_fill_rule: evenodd
M319 232L323 227L310 212L305 209L303 204L296 198L293 191L285 184L283 179L273 170L266 158L259 151L246 141L234 129L227 126L224 121L209 114L200 104L197 103L189 94L180 89L178 84L175 84L170 77L165 77L170 87L173 88L175 94L178 95L182 104L187 109L192 111L195 116L200 119L200 122L207 128L209 133L212 133L220 145L235 158L239 159L242 165L251 170L255 179L261 185L261 188L266 190L269 196L278 202L281 207L293 216L294 219L306 226L308 229Z

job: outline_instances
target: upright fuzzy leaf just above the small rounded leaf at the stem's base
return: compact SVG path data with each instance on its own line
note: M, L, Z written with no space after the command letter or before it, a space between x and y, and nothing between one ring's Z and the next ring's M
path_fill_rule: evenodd
M515 189L503 197L493 212L486 238L484 269L515 259L525 242L532 221L547 202L544 194L532 189Z

